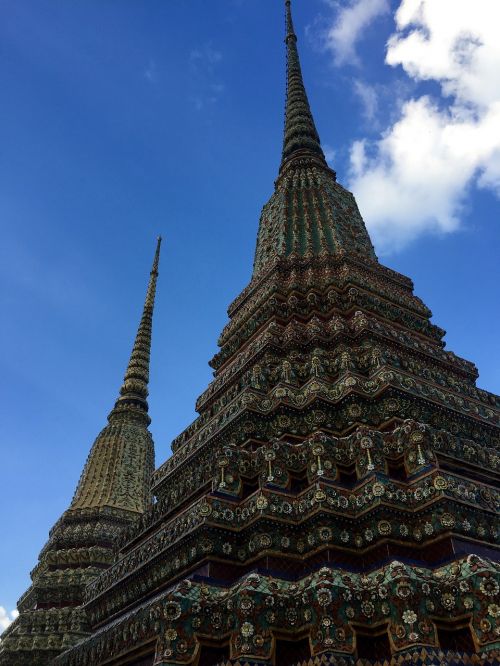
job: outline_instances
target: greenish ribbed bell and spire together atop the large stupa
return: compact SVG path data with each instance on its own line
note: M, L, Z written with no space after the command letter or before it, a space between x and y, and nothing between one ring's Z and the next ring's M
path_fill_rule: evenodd
M287 91L283 155L272 197L262 209L254 277L276 260L351 256L376 261L353 195L326 163L309 107L290 0L285 1Z

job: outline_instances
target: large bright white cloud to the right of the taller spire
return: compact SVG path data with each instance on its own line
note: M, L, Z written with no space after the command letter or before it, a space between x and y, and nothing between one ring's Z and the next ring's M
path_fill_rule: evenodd
M380 251L456 230L476 184L500 196L499 22L497 0L402 0L386 62L442 96L407 100L351 148L349 187Z

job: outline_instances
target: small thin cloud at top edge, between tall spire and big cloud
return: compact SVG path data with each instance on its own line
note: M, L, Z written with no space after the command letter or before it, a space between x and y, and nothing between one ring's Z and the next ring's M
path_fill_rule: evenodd
M339 3L330 0L334 7ZM359 63L356 44L363 31L376 18L389 12L389 0L349 0L337 13L335 23L325 35L325 46L334 54L335 64Z

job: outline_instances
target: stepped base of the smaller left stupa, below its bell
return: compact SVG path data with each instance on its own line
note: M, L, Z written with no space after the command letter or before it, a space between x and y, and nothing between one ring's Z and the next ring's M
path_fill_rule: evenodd
M18 601L19 617L2 636L0 663L51 664L90 632L85 587L114 560L113 543L130 514L112 508L70 509L57 521Z

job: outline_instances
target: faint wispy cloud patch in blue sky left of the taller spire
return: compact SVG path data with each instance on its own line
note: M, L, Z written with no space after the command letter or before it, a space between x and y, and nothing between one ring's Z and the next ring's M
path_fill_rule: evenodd
M218 74L222 53L211 43L193 49L189 54L189 66L193 93L193 104L198 111L215 104L225 90Z

